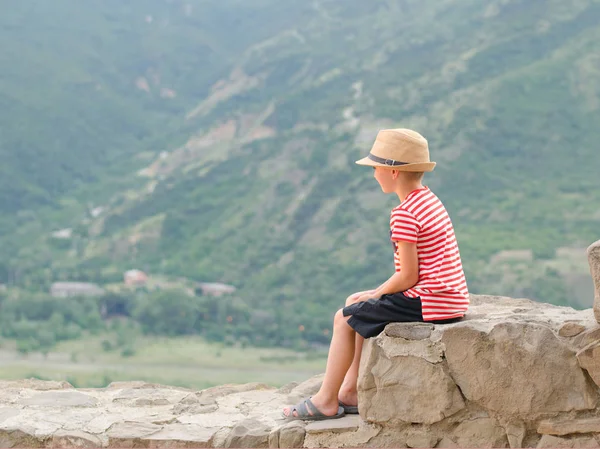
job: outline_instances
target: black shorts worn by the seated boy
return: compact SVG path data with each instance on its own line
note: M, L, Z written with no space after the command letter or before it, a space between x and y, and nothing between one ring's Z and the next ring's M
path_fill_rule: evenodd
M379 335L390 323L424 322L421 298L409 298L404 293L383 295L380 299L357 302L342 309L350 316L348 324L364 338ZM449 320L427 321L433 324L449 324L462 317Z

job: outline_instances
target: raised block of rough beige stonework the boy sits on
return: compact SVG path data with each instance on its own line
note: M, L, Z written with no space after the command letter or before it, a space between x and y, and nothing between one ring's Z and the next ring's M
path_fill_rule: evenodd
M474 296L461 323L365 346L360 412L393 445L599 447L599 348L591 309Z

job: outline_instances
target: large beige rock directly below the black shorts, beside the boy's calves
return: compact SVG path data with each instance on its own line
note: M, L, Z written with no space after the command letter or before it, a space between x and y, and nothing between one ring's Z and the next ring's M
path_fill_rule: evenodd
M375 337L382 338L390 339ZM416 356L388 358L385 352L377 341L363 347L358 404L364 419L431 424L464 408L445 363Z

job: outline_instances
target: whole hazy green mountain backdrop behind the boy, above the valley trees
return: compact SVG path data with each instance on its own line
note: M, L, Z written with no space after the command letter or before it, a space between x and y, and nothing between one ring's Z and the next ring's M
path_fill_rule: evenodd
M0 38L0 282L220 281L317 338L393 269L354 160L411 127L473 292L591 304L596 1L37 0Z

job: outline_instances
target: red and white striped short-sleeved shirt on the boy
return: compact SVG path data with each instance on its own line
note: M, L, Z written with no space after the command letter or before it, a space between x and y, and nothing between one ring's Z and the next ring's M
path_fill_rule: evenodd
M392 210L391 239L417 244L419 280L404 294L421 297L425 321L463 316L469 291L460 260L454 228L446 208L427 187L413 190ZM401 270L394 252L396 271Z

